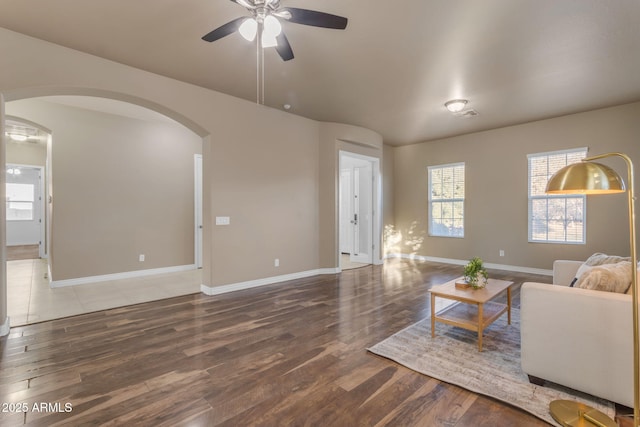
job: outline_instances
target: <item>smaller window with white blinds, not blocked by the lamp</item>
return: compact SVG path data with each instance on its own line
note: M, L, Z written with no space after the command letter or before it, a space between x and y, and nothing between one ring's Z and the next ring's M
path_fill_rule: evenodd
M464 237L464 163L429 166L429 235Z

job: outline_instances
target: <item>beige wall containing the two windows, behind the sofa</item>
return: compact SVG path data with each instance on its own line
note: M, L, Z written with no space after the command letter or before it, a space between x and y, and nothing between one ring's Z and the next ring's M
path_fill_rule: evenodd
M621 151L640 163L639 136L640 103L634 103L395 148L395 240L387 249L542 269L594 252L628 254L624 195L588 198L586 245L528 243L527 154L589 147L592 155ZM427 166L454 162L466 164L465 237L429 237ZM621 160L603 163L626 177Z

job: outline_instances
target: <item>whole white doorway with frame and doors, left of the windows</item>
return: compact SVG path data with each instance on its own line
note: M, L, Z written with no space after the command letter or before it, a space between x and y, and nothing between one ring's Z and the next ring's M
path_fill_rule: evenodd
M339 266L344 270L376 264L379 159L341 151L339 168Z

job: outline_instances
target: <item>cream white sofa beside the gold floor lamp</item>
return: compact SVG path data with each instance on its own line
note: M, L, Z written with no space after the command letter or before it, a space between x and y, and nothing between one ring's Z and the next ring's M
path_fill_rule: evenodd
M522 285L522 369L633 407L631 295L569 287L580 265L556 261L553 285Z

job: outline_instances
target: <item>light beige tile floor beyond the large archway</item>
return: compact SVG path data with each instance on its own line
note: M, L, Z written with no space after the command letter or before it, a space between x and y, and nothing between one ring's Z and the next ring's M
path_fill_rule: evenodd
M202 270L50 288L47 261L7 262L11 326L200 292Z

